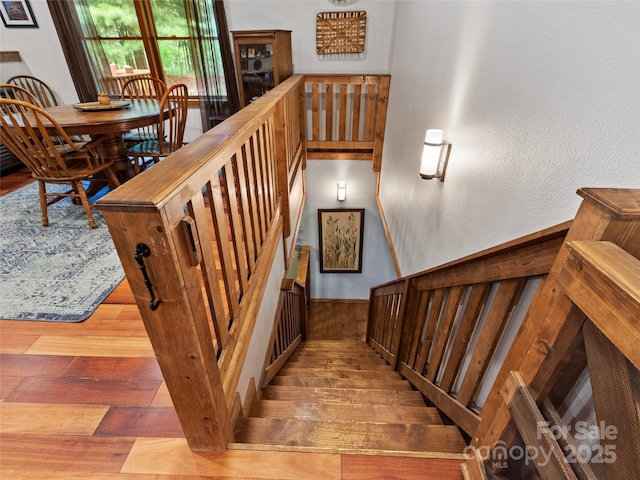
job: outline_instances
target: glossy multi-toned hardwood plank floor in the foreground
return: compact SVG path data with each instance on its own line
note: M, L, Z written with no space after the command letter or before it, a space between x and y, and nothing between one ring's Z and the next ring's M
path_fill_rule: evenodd
M4 194L30 180L18 170ZM126 280L80 323L0 321L3 479L462 479L460 459L191 452Z

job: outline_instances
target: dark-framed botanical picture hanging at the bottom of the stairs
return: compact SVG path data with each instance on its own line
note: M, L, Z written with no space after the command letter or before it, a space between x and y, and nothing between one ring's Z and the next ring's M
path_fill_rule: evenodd
M364 208L318 209L320 273L362 273Z

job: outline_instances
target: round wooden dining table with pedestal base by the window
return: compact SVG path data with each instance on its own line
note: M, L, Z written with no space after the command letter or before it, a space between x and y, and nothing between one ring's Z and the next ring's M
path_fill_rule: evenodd
M115 173L124 182L134 176L134 171L127 155L123 134L158 123L160 102L154 99L142 99L113 101L112 104L113 107L109 108L99 106L98 102L88 102L57 105L44 110L70 136L89 136L91 139L104 137L100 143L100 152L105 158L114 162Z

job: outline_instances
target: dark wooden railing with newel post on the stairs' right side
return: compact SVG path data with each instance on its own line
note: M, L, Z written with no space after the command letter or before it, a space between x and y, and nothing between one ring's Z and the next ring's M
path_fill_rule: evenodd
M473 445L492 445L505 432L511 416L501 388L511 371L527 384L536 378L537 397L556 384L564 360L557 351L575 337L580 318L559 283L568 254L562 245L611 241L640 258L640 190L578 193L584 200L568 230L565 224L372 289L369 343ZM518 316L517 333L506 335ZM563 373L562 384L571 386L581 370ZM480 390L488 391L482 405Z

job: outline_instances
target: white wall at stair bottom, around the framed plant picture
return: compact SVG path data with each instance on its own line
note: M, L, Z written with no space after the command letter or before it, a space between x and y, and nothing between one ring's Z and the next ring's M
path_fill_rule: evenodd
M298 245L309 245L311 297L368 299L370 288L396 278L391 253L375 201L376 174L371 162L308 160L307 200L298 232ZM337 200L338 181L347 182L347 199ZM364 208L362 273L320 273L318 209Z

